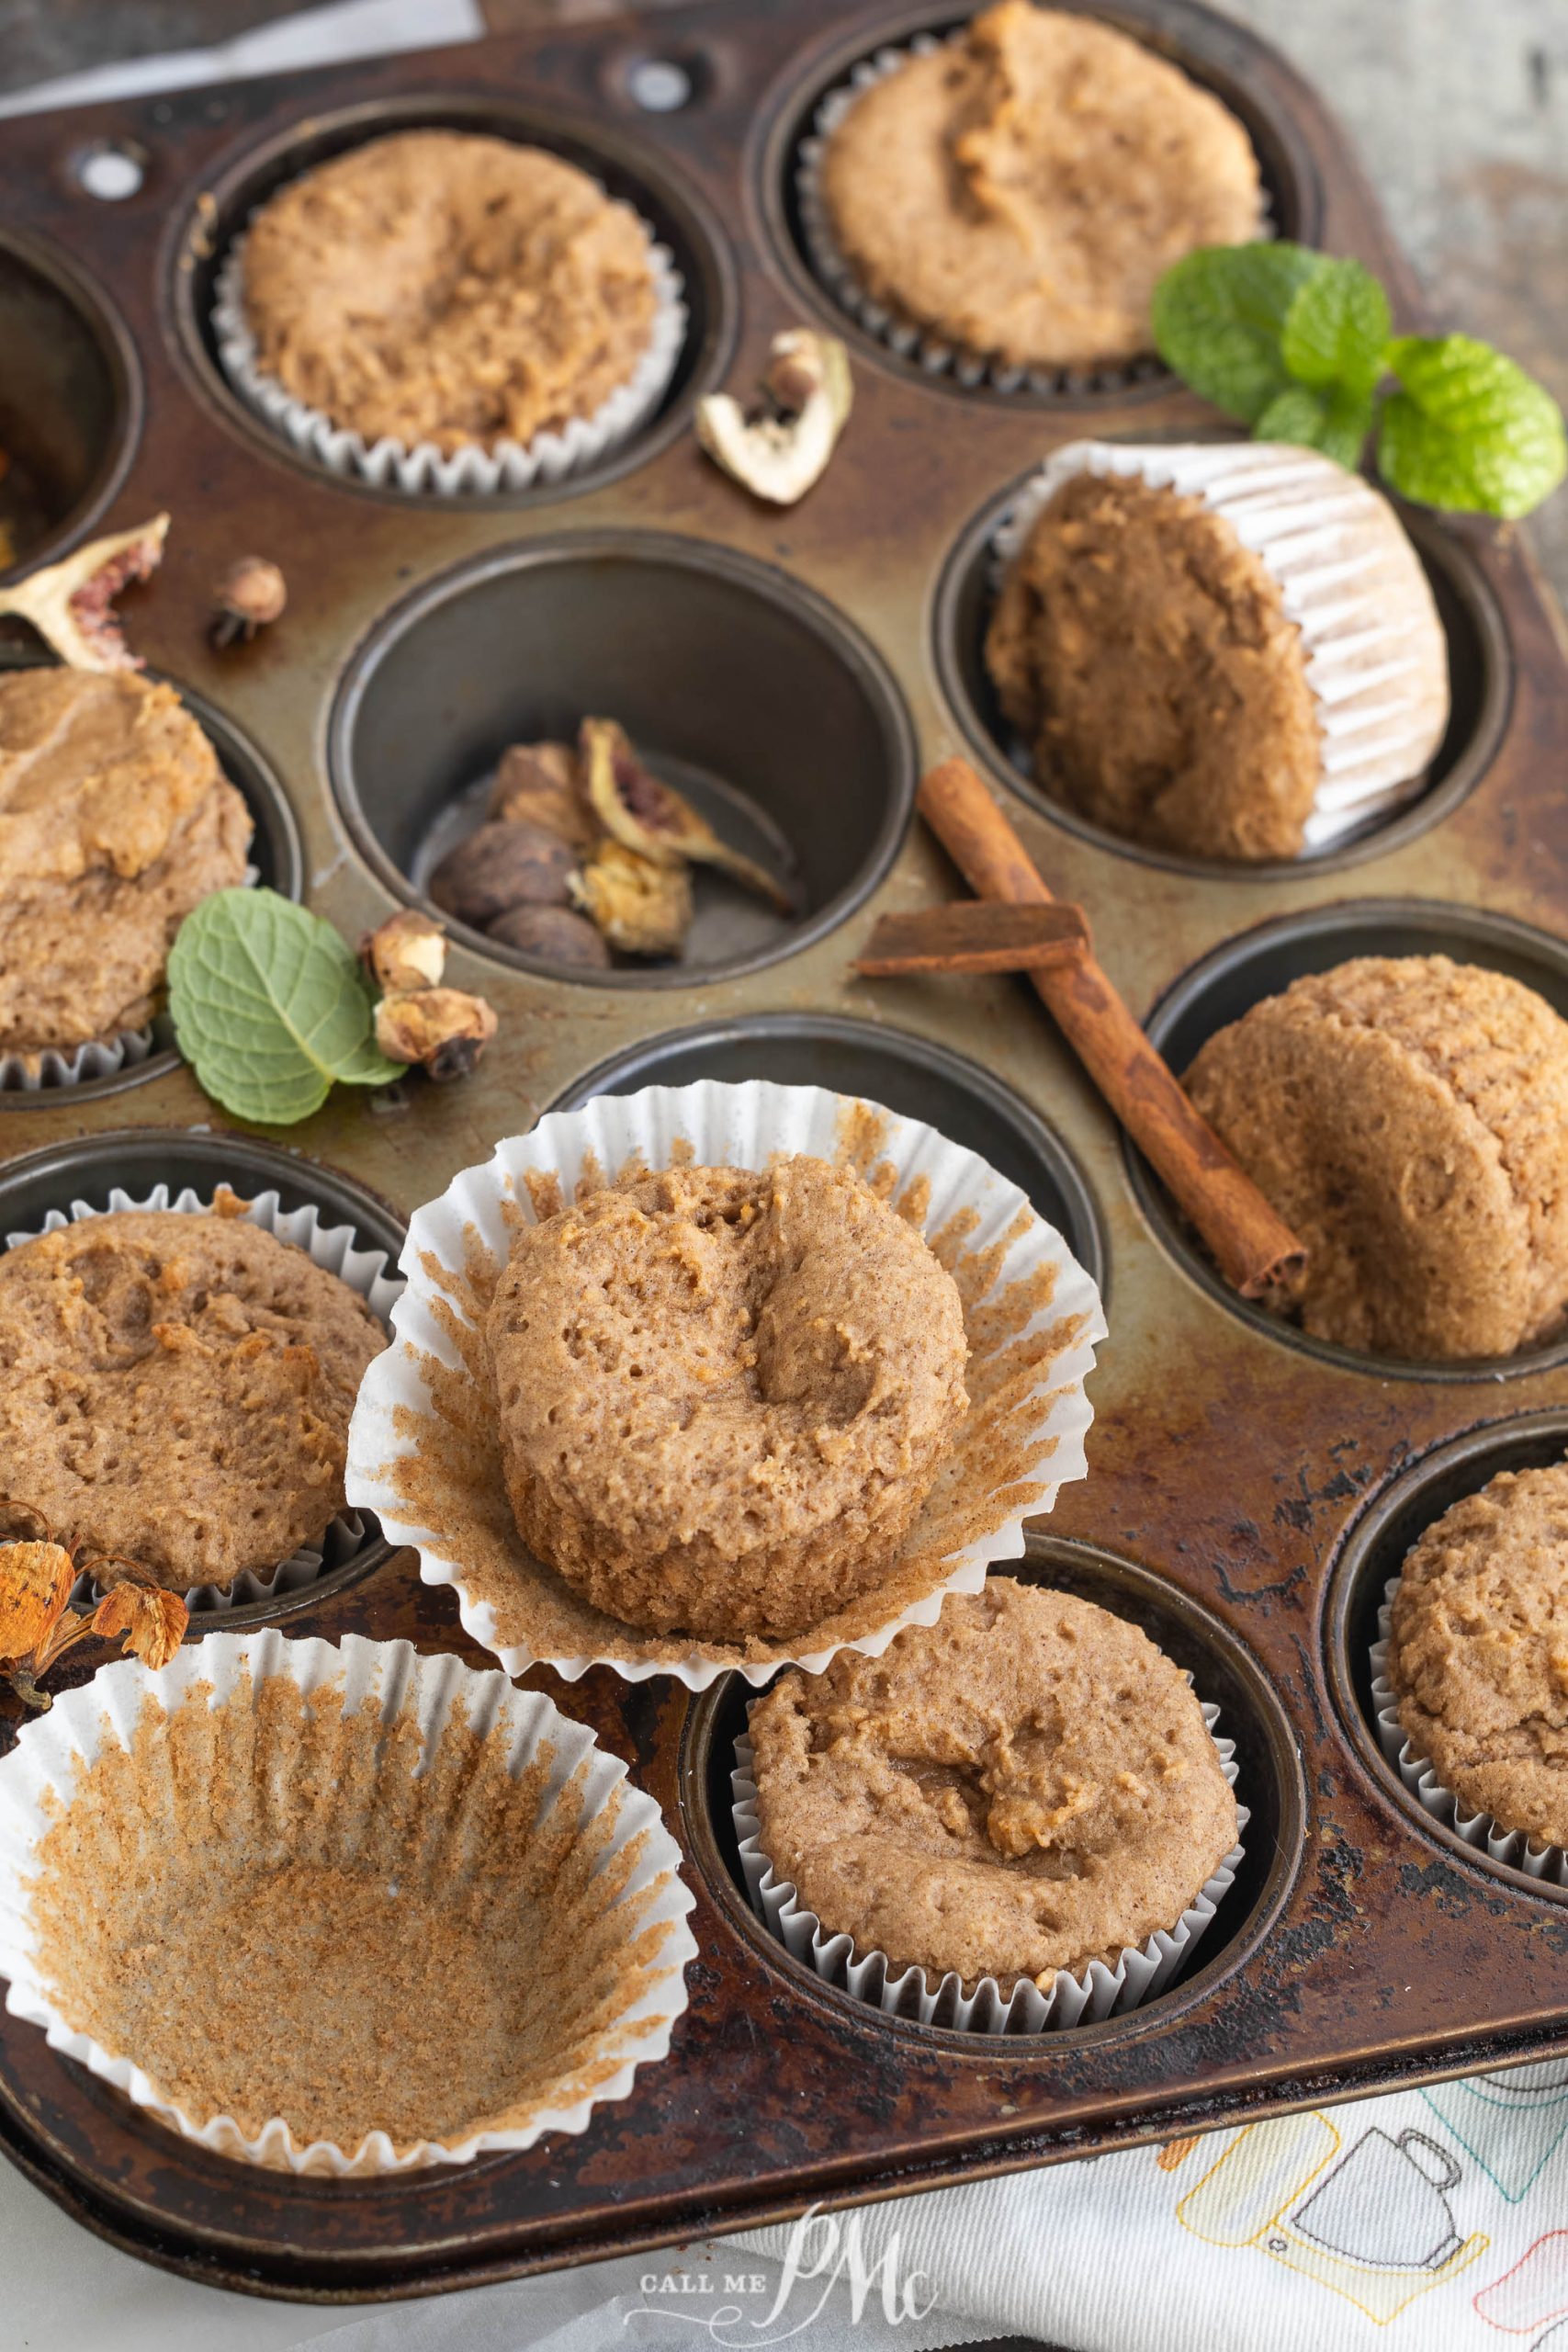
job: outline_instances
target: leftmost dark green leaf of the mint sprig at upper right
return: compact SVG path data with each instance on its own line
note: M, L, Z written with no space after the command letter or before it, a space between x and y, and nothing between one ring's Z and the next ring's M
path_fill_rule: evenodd
M1328 268L1305 245L1201 245L1154 287L1154 348L1194 393L1255 423L1291 383L1281 334L1300 289Z

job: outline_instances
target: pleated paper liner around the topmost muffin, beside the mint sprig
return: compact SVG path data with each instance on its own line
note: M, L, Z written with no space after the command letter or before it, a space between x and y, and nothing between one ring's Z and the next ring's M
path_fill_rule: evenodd
M1135 360L1105 360L1095 367L1018 367L1011 360L999 360L994 353L987 355L966 350L961 343L933 334L917 320L900 315L893 303L877 301L877 296L870 294L856 278L856 268L842 252L835 235L832 212L823 193L823 158L827 153L827 143L867 89L877 82L886 82L889 75L898 73L898 68L912 56L936 56L940 49L957 47L964 40L966 31L959 28L945 38L938 38L936 33L919 33L905 47L875 49L851 68L846 80L835 82L835 87L818 103L811 132L802 139L795 155L795 200L799 207L806 259L811 261L813 273L827 287L839 308L849 310L849 315L879 343L886 343L886 348L898 353L900 360L912 360L929 376L952 376L952 381L961 383L966 393L1056 393L1079 397L1081 393L1121 393L1131 383L1161 376L1164 362L1154 350L1147 350ZM1267 219L1267 188L1260 191L1260 205L1262 214L1258 235L1269 238L1274 230Z

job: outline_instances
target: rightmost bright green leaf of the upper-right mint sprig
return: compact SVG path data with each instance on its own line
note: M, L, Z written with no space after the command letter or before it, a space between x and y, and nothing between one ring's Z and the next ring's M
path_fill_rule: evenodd
M1514 517L1563 480L1563 412L1490 343L1406 334L1387 358L1403 390L1385 402L1378 466L1401 499Z

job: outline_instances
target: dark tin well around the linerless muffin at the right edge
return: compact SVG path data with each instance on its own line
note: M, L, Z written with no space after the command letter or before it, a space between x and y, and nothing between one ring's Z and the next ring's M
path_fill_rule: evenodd
M1307 908L1241 931L1185 971L1154 1004L1145 1028L1180 1077L1215 1030L1239 1021L1262 997L1276 997L1307 971L1331 971L1356 955L1448 955L1455 964L1486 964L1523 981L1568 1018L1568 943L1512 915L1476 906L1443 906L1427 898L1352 898ZM1220 1279L1197 1235L1147 1160L1121 1145L1128 1181L1159 1242L1232 1315L1269 1338L1349 1371L1408 1381L1505 1381L1568 1362L1568 1334L1519 1355L1410 1364L1401 1357L1361 1355L1335 1341L1312 1338L1279 1315L1241 1298Z

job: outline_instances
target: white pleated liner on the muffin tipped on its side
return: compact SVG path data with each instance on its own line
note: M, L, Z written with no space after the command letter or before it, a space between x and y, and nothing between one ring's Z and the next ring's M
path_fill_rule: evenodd
M1448 729L1448 637L1420 557L1371 482L1291 442L1067 442L997 529L997 588L1079 473L1201 499L1279 581L1321 731L1302 856L1338 849L1420 797Z

